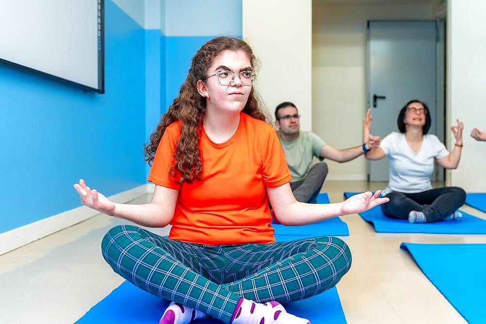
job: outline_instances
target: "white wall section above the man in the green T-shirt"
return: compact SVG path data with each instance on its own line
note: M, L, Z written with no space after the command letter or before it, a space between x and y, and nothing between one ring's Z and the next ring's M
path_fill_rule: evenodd
M312 125L311 0L243 0L243 39L261 61L255 83L269 112L294 102L301 129Z

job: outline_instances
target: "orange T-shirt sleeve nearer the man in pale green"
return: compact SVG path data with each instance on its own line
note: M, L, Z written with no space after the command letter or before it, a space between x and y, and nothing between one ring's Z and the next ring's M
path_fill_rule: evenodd
M259 143L264 145L259 151L263 183L266 187L278 187L290 182L292 176L277 133L271 127L268 127L268 130L262 133L263 138L259 140Z

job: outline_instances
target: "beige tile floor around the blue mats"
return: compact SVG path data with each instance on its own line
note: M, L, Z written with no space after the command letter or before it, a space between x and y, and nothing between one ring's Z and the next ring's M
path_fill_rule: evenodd
M331 202L340 202L345 190L382 187L328 181L322 191ZM486 219L468 206L462 209ZM348 323L466 323L399 244L486 243L486 235L375 233L358 215L343 220L350 235L342 238L351 248L353 265L337 289ZM122 279L104 262L100 243L110 227L122 222L100 214L0 256L0 323L73 323L108 295Z

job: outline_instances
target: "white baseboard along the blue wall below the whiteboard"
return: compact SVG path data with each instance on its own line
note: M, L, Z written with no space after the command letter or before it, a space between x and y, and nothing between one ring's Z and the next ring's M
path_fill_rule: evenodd
M126 203L132 199L154 192L154 185L146 184L108 197L115 203ZM42 239L52 233L68 228L98 215L99 212L86 206L67 210L57 215L15 228L0 234L0 255L17 249L25 244Z

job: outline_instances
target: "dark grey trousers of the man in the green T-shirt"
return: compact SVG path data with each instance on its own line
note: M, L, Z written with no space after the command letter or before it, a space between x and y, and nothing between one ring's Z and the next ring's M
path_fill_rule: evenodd
M314 164L304 180L290 183L295 199L301 203L315 204L315 199L321 191L327 175L328 165L326 162Z

